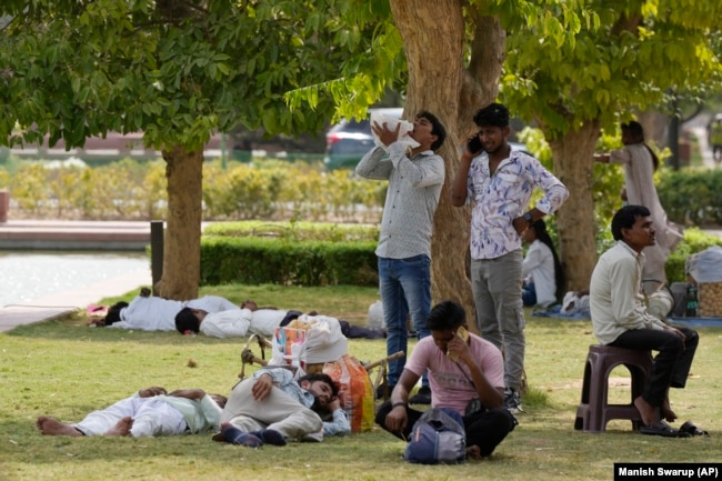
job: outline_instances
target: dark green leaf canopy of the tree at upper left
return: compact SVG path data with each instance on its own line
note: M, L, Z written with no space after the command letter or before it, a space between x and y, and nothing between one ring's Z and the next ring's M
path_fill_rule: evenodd
M341 22L351 10L355 21ZM309 112L290 109L284 94L333 83L381 91L375 79L339 81L347 62L348 71L401 70L402 56L382 62L373 53L378 14L349 1L3 2L0 143L49 134L51 146L78 147L110 130L142 130L147 146L193 150L239 124L320 131L330 97Z

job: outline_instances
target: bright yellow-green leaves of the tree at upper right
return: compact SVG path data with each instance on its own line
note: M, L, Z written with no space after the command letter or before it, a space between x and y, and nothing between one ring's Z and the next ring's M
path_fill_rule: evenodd
M555 24L551 17L562 8ZM665 106L671 91L720 84L718 2L690 3L684 14L672 0L565 2L523 24L519 9L502 4L502 24L512 33L502 98L542 126L548 140L589 121L613 129L633 108Z

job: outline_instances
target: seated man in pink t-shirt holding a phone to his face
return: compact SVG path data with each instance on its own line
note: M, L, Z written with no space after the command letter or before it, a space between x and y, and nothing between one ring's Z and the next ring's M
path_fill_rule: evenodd
M429 374L432 407L449 408L463 415L467 455L491 455L514 429L517 419L502 408L504 362L491 342L467 330L467 313L453 301L434 305L427 319L431 335L411 352L391 400L377 412L381 428L409 439L422 412L409 408L409 392L423 373Z

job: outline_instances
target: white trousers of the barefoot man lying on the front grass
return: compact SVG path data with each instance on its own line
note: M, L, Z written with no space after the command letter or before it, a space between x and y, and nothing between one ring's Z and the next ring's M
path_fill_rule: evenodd
M127 415L133 419L134 438L182 434L188 429L181 412L157 398L127 398L71 425L86 435L102 435Z

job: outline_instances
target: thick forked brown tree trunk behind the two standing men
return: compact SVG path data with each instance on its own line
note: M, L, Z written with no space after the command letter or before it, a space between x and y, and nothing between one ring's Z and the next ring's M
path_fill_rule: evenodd
M409 66L405 114L428 110L441 120L448 133L439 151L445 160L447 180L434 217L432 299L434 303L455 300L473 319L468 271L470 211L451 204L449 187L459 164L459 146L473 131L473 113L497 96L503 63L503 30L494 19L475 19L477 38L468 72L462 63L465 2L391 0L390 4Z

